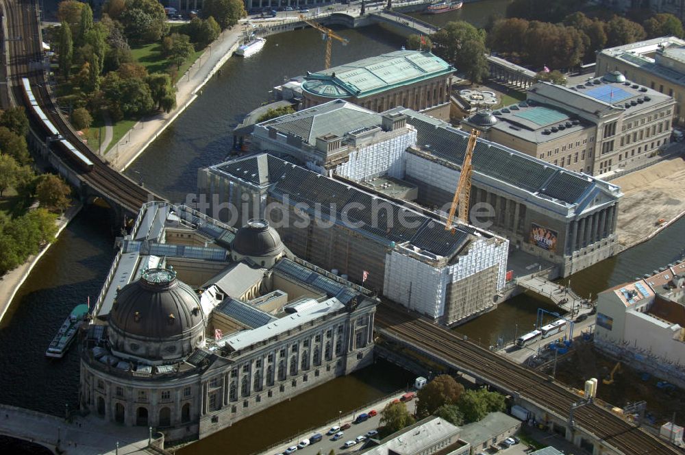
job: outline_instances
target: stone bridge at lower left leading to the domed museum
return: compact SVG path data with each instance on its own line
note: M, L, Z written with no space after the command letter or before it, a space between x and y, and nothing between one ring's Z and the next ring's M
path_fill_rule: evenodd
M116 426L89 415L71 423L60 417L0 405L0 433L75 455L134 454L148 446L147 428ZM117 444L119 450L117 451Z

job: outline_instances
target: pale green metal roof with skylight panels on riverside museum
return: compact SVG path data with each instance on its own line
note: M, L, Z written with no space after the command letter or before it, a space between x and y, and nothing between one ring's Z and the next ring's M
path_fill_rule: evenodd
M395 51L309 73L302 88L323 97L361 98L453 71L430 52Z

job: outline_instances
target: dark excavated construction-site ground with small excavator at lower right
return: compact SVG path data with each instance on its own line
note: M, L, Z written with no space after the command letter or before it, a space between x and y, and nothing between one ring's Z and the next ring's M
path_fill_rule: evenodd
M620 371L614 373L613 384L603 384L602 380L608 378L616 360L597 352L591 343L582 344L586 346L575 349L559 360L557 380L582 390L587 379L597 378L597 397L604 402L623 408L627 403L644 399L647 402L647 419L653 420L653 424L662 425L670 421L674 412L676 423L685 423L685 415L682 413L685 409L685 394L682 390L658 389L656 383L660 379L651 376L643 380L641 371L623 364ZM551 374L551 367L546 368L545 373Z

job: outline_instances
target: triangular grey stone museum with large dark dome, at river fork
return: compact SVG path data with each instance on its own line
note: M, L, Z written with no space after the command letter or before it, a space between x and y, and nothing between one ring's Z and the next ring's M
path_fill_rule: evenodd
M197 439L372 361L377 300L265 220L151 202L119 247L79 343L81 406L105 420Z

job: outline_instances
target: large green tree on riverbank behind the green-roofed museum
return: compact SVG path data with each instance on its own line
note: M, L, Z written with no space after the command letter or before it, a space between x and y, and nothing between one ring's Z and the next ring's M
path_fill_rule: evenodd
M485 30L464 21L449 22L433 36L435 51L451 62L472 82L480 82L487 73Z

